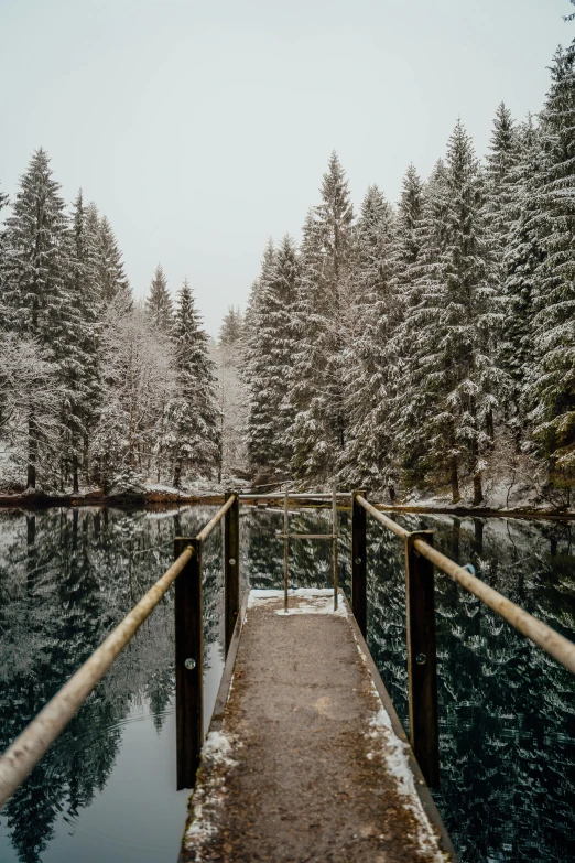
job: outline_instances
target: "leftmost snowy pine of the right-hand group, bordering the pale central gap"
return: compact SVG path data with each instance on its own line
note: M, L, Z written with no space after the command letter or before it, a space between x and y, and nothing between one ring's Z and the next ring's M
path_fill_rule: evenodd
M293 315L297 260L285 236L278 250L268 246L258 285L249 339L248 453L259 483L282 482L290 474L291 407L286 380L293 359Z

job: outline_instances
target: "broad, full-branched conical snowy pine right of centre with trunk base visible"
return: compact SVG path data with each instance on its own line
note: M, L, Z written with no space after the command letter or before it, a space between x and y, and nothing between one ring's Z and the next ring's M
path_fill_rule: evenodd
M454 501L462 470L474 479L474 503L482 499L484 456L491 445L491 418L505 376L495 355L502 324L482 216L481 181L473 144L457 121L447 145L440 191L443 224L432 226L421 301L411 311L417 342L411 398L424 406L430 455L437 476L446 473ZM419 360L419 362L417 362Z

